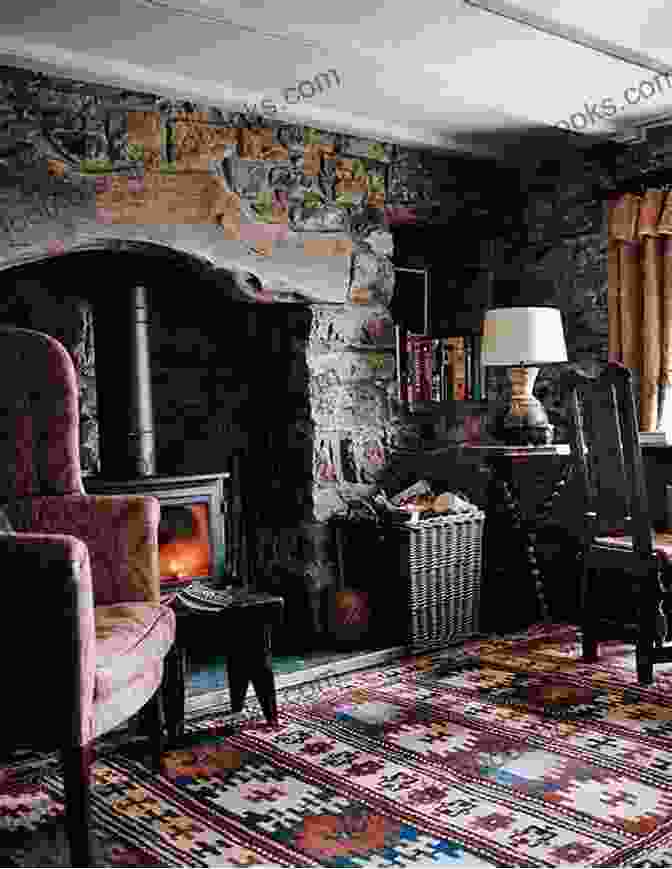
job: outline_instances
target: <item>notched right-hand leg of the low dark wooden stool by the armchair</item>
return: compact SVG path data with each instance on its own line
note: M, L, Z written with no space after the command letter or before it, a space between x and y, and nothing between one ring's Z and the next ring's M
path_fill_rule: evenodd
M259 629L248 631L244 648L239 648L227 657L231 711L241 712L247 688L252 682L266 721L277 724L278 707L275 696L275 675L272 667L271 626L264 624Z

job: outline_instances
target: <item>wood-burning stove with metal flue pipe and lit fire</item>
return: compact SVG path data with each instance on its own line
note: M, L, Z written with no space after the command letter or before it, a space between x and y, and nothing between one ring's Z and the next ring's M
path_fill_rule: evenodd
M228 566L223 514L230 474L156 474L148 294L135 286L120 296L94 306L94 329L96 321L103 324L96 329L95 362L102 473L86 477L85 488L158 499L164 587L221 579Z

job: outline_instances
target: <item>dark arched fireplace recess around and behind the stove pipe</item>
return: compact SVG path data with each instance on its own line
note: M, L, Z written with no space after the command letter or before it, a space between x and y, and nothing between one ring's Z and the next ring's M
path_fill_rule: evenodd
M247 552L240 567L303 573L313 506L306 305L249 304L231 271L118 240L22 262L2 277L0 319L53 334L75 360L89 488L93 476L118 479L124 468L133 476L126 412L135 403L131 360L137 368L142 354L129 315L145 288L156 440L149 470L189 477L235 463L247 520L245 539L235 532Z

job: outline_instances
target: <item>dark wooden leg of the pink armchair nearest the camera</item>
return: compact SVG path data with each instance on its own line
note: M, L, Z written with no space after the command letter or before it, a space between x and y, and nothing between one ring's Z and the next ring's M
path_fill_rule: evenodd
M73 866L93 866L89 789L91 745L61 749L65 786L65 824Z

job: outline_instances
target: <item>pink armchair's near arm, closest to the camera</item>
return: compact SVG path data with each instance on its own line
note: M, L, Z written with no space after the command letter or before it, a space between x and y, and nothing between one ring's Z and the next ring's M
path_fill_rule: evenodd
M65 534L1 534L3 729L47 748L93 735L96 632L89 554ZM55 743L55 744L54 744Z

